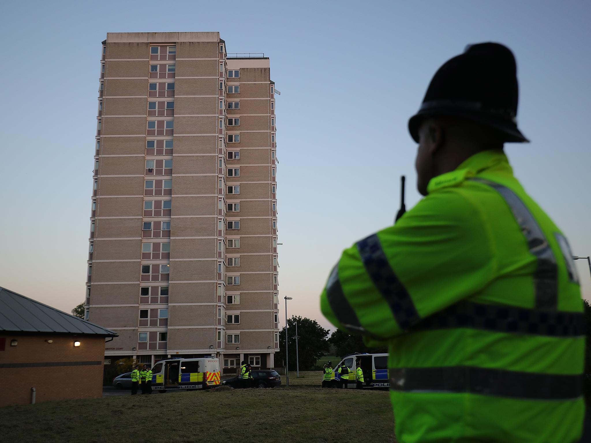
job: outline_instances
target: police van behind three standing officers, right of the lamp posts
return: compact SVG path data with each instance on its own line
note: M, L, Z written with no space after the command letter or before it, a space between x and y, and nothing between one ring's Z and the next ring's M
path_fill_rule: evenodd
M339 375L339 369L342 366L346 366L349 368L349 381L347 382L347 387L356 386L356 361L358 359L359 364L361 366L361 370L363 371L364 388L390 387L388 377L388 354L361 354L358 352L349 354L348 356L343 358L343 360L341 360L339 364L337 364L333 373L333 386L342 387L342 381Z

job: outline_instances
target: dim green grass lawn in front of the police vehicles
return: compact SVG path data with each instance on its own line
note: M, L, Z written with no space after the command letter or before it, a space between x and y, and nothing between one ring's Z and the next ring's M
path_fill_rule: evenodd
M308 375L290 376L289 388L223 387L7 406L0 408L0 435L7 442L47 443L396 441L387 391L306 386L304 380L319 379Z

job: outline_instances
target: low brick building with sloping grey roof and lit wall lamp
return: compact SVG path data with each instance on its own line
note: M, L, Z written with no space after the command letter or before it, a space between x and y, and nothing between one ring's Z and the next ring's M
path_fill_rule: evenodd
M0 406L100 397L105 337L116 335L0 288Z

